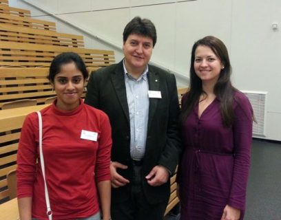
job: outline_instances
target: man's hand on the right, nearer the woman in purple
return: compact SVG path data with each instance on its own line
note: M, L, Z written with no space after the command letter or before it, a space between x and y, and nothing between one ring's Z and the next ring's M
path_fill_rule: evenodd
M161 186L167 183L169 172L164 166L154 166L150 173L145 177L150 186Z

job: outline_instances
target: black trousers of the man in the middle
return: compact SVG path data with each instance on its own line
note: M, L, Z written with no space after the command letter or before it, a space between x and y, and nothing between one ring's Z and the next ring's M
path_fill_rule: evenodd
M127 201L112 203L113 220L163 220L168 201L150 204L141 186L141 166L134 166L132 190Z

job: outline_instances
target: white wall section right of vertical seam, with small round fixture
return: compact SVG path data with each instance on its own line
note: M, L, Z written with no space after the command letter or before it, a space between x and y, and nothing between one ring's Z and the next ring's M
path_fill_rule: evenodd
M281 140L281 1L232 4L231 62L233 80L242 90L267 91L266 139Z

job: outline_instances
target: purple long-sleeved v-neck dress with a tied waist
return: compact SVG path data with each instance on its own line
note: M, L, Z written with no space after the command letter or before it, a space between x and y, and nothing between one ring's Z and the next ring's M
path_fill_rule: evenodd
M183 220L220 220L227 204L244 213L253 110L240 91L234 93L233 109L236 120L230 128L222 125L218 99L200 118L197 104L183 123L177 177Z

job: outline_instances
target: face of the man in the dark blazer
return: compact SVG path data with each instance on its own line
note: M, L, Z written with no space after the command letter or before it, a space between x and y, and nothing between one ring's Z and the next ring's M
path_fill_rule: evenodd
M140 76L152 56L153 41L147 36L130 34L123 44L125 67L129 74Z

